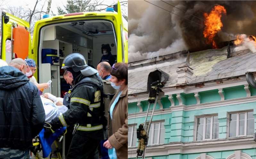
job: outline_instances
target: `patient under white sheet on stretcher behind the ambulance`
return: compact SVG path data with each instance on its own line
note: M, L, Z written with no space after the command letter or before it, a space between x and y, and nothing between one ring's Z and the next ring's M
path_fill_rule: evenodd
M41 100L45 109L45 122L49 123L51 120L53 120L55 117L58 117L62 113L66 112L68 108L64 106L63 98L52 98L52 94L45 93L43 96L41 95ZM54 99L51 100L51 99Z

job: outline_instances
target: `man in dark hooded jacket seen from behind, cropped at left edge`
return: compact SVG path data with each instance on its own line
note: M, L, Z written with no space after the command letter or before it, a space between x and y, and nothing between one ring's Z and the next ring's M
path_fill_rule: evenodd
M0 68L0 158L30 158L32 139L43 129L45 111L25 61Z

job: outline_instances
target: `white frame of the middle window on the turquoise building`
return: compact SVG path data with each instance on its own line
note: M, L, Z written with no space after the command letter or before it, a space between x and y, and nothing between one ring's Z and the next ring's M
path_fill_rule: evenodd
M196 117L196 124L195 124L195 141L207 141L207 140L215 140L215 139L212 139L212 131L213 131L213 116L217 116L218 118L218 115L207 115L207 116L198 116ZM196 140L197 138L197 119L198 118L204 118L204 121L203 121L203 139L202 140ZM210 132L210 139L205 139L205 132L206 132L206 118L211 118L211 132ZM218 120L218 123L219 123L219 120ZM218 138L219 139L219 134L218 134Z

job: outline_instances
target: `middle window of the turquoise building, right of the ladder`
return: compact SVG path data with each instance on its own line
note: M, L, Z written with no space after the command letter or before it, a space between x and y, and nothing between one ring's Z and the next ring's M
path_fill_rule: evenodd
M219 138L218 116L205 116L197 118L196 141Z

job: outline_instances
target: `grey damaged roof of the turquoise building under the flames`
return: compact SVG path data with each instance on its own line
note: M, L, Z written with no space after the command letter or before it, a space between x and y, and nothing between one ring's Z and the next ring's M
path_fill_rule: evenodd
M169 74L164 87L180 85L178 82L178 67L187 64L189 57L190 68L193 69L192 81L187 84L204 83L224 78L245 76L246 71L256 71L256 53L249 49L235 51L231 47L231 56L227 59L227 47L209 49L190 53L176 52L161 57L136 61L128 64L128 94L147 91L147 79L150 72L158 68ZM184 84L182 84L184 85Z

